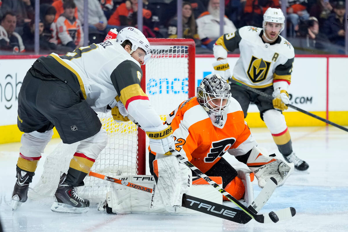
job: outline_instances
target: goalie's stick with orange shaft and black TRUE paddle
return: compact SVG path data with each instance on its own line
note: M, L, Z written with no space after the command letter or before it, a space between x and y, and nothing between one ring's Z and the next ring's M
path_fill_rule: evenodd
M153 185L153 189L150 189L148 187L145 186L141 186L141 185L137 185L137 184L133 184L127 181L122 181L120 179L117 178L113 178L110 176L105 176L102 174L98 174L98 173L94 173L92 171L90 171L88 173L89 176L94 176L100 179L104 179L106 181L110 181L113 183L117 183L117 184L121 184L121 185L125 185L128 187L133 187L135 189L139 189L141 191L144 192L148 192L148 193L154 193L155 189L156 189L156 185ZM235 209L229 206L224 206L212 201L208 201L208 200L204 200L204 199L200 199L197 197L193 197L187 194L183 194L182 197L182 207L184 208L188 208L188 209L192 209L204 214L209 214L215 217L220 217L232 222L236 222L239 224L245 224L247 222L249 222L252 218L246 214L244 211L240 210L240 209Z

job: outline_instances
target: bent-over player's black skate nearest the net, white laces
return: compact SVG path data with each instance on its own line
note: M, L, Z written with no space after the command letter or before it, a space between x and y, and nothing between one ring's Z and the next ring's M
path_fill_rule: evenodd
M51 210L58 213L86 213L89 207L89 200L77 195L77 187L66 184L65 179L66 174L63 173L57 191L54 194Z

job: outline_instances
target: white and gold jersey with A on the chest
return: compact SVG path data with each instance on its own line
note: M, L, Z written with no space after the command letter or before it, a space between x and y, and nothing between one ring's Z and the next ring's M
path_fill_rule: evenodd
M294 48L279 35L273 43L262 39L259 27L244 26L234 33L222 35L215 43L215 58L227 58L227 51L240 50L232 79L252 88L265 88L274 82L291 82Z

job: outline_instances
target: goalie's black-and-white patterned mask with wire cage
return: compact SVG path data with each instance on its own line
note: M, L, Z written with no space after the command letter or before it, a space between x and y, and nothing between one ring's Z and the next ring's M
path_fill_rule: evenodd
M230 85L217 74L209 74L197 87L197 101L208 112L214 115L214 123L219 125L223 111L231 102Z

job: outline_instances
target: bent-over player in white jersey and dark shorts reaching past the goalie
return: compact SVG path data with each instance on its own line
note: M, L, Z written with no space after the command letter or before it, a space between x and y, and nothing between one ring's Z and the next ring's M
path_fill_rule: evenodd
M14 209L27 200L29 183L53 127L63 143L80 142L54 195L51 210L57 212L88 210L89 201L79 197L76 187L84 185L85 176L107 143L95 112L111 110L120 121L129 120L127 115L133 117L150 137L151 149L160 154L175 147L171 127L163 125L140 87L141 64L150 56L145 36L134 27L126 27L116 39L63 56L41 56L34 62L18 95L17 124L24 134L12 197Z

